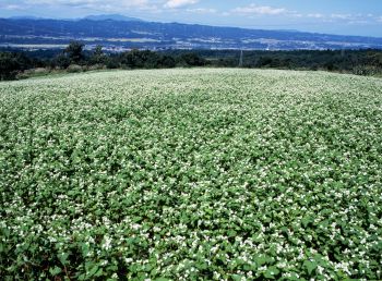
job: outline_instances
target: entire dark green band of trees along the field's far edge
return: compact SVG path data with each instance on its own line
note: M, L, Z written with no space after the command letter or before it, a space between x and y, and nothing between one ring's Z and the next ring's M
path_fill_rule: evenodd
M25 78L50 72L83 72L100 69L168 69L189 66L274 68L288 70L324 70L358 75L382 74L381 50L169 50L154 52L131 50L109 53L97 46L84 50L72 41L64 50L0 51L0 80Z

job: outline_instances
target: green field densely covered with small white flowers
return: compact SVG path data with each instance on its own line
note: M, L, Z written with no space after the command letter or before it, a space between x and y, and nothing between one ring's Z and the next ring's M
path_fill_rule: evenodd
M0 276L382 279L382 80L0 83Z

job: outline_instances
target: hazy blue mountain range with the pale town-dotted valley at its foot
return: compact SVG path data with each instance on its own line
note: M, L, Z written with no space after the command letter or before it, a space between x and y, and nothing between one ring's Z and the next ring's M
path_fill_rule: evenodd
M0 19L0 47L63 48L81 40L87 48L102 45L122 51L141 49L382 49L382 38L145 22L119 14L79 20Z

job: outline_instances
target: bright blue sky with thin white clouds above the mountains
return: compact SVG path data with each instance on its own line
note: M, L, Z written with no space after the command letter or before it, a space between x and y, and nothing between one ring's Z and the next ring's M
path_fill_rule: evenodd
M0 17L119 13L148 21L382 37L381 0L0 0Z

